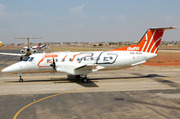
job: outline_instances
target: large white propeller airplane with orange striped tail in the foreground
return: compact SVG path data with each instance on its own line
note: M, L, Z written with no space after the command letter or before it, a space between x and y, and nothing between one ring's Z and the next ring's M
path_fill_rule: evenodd
M88 82L87 75L100 70L116 70L145 63L157 56L165 30L175 27L149 28L136 44L109 51L36 53L25 60L12 64L1 72L22 73L64 72L76 79Z

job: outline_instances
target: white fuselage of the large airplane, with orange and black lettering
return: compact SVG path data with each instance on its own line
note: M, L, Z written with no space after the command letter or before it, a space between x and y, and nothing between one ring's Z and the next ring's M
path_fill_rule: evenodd
M142 64L157 56L154 53L137 51L92 51L92 52L56 52L36 53L27 61L15 63L4 72L11 73L46 73L53 72L50 64L55 60L57 70L73 75L87 74L98 70L115 70ZM33 59L31 59L33 58ZM74 71L75 66L97 65L91 70Z

